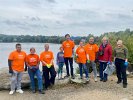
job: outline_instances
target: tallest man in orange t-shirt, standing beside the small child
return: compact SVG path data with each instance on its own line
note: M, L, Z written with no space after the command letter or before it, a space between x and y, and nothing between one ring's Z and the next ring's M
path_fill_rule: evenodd
M74 74L73 74L73 53L74 53L74 41L70 39L70 35L66 34L65 35L66 41L62 43L62 47L64 50L64 60L65 60L65 65L66 65L66 72L67 75L66 77L69 77L69 64L71 68L71 77L74 79Z

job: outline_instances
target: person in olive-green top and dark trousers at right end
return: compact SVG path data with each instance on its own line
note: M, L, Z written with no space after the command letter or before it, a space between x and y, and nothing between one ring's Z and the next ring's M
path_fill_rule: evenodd
M123 45L122 40L118 40L114 49L114 61L116 65L117 84L123 81L123 88L127 87L126 69L128 66L128 49Z

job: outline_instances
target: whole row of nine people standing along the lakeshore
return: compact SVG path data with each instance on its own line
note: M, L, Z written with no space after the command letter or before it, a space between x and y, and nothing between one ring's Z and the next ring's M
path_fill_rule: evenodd
M80 70L80 79L83 79L82 69L84 69L86 81L89 81L89 69L87 68L87 64L90 64L94 73L94 81L97 82L96 62L98 61L100 63L100 81L106 82L108 80L108 75L104 73L104 70L108 64L114 62L118 78L117 83L123 82L123 87L127 87L126 68L128 66L128 50L123 45L122 40L117 41L117 46L114 48L114 60L112 60L113 50L107 37L102 39L102 44L100 46L95 44L94 37L91 37L87 44L81 40L76 51L74 51L75 43L71 40L70 35L66 34L65 38L66 40L60 46L60 51L57 53L56 57L56 64L59 66L57 71L59 79L62 79L64 64L66 65L65 77L75 78L73 68L73 57L75 52L77 57L76 62ZM43 80L46 90L55 83L56 71L53 60L54 55L53 52L49 50L49 44L44 45L44 51L40 54L40 57L36 54L34 47L30 48L30 54L27 55L21 50L21 44L16 44L16 50L11 52L8 58L9 73L11 73L11 91L9 94L14 94L15 91L23 93L21 89L21 80L23 71L27 70L31 80L32 92L36 93L34 80L34 76L36 75L38 80L38 92L44 94ZM40 62L42 63L43 75L39 69Z

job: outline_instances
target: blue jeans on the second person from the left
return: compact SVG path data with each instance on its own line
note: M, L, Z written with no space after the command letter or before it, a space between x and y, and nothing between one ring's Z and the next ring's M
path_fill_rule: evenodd
M28 68L28 73L30 76L30 81L31 81L31 88L32 90L35 90L35 81L34 81L34 76L37 76L37 80L38 80L38 89L42 90L42 75L39 69L37 69L36 71L31 70L30 68Z

